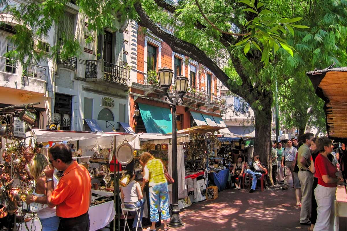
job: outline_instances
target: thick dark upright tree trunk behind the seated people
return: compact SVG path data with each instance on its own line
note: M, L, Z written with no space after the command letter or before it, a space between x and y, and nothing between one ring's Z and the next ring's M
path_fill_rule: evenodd
M253 109L254 110L254 109ZM268 169L268 183L273 184L270 163L271 153L271 104L263 106L262 110L254 110L255 117L255 137L254 137L254 154L259 155L260 161Z

